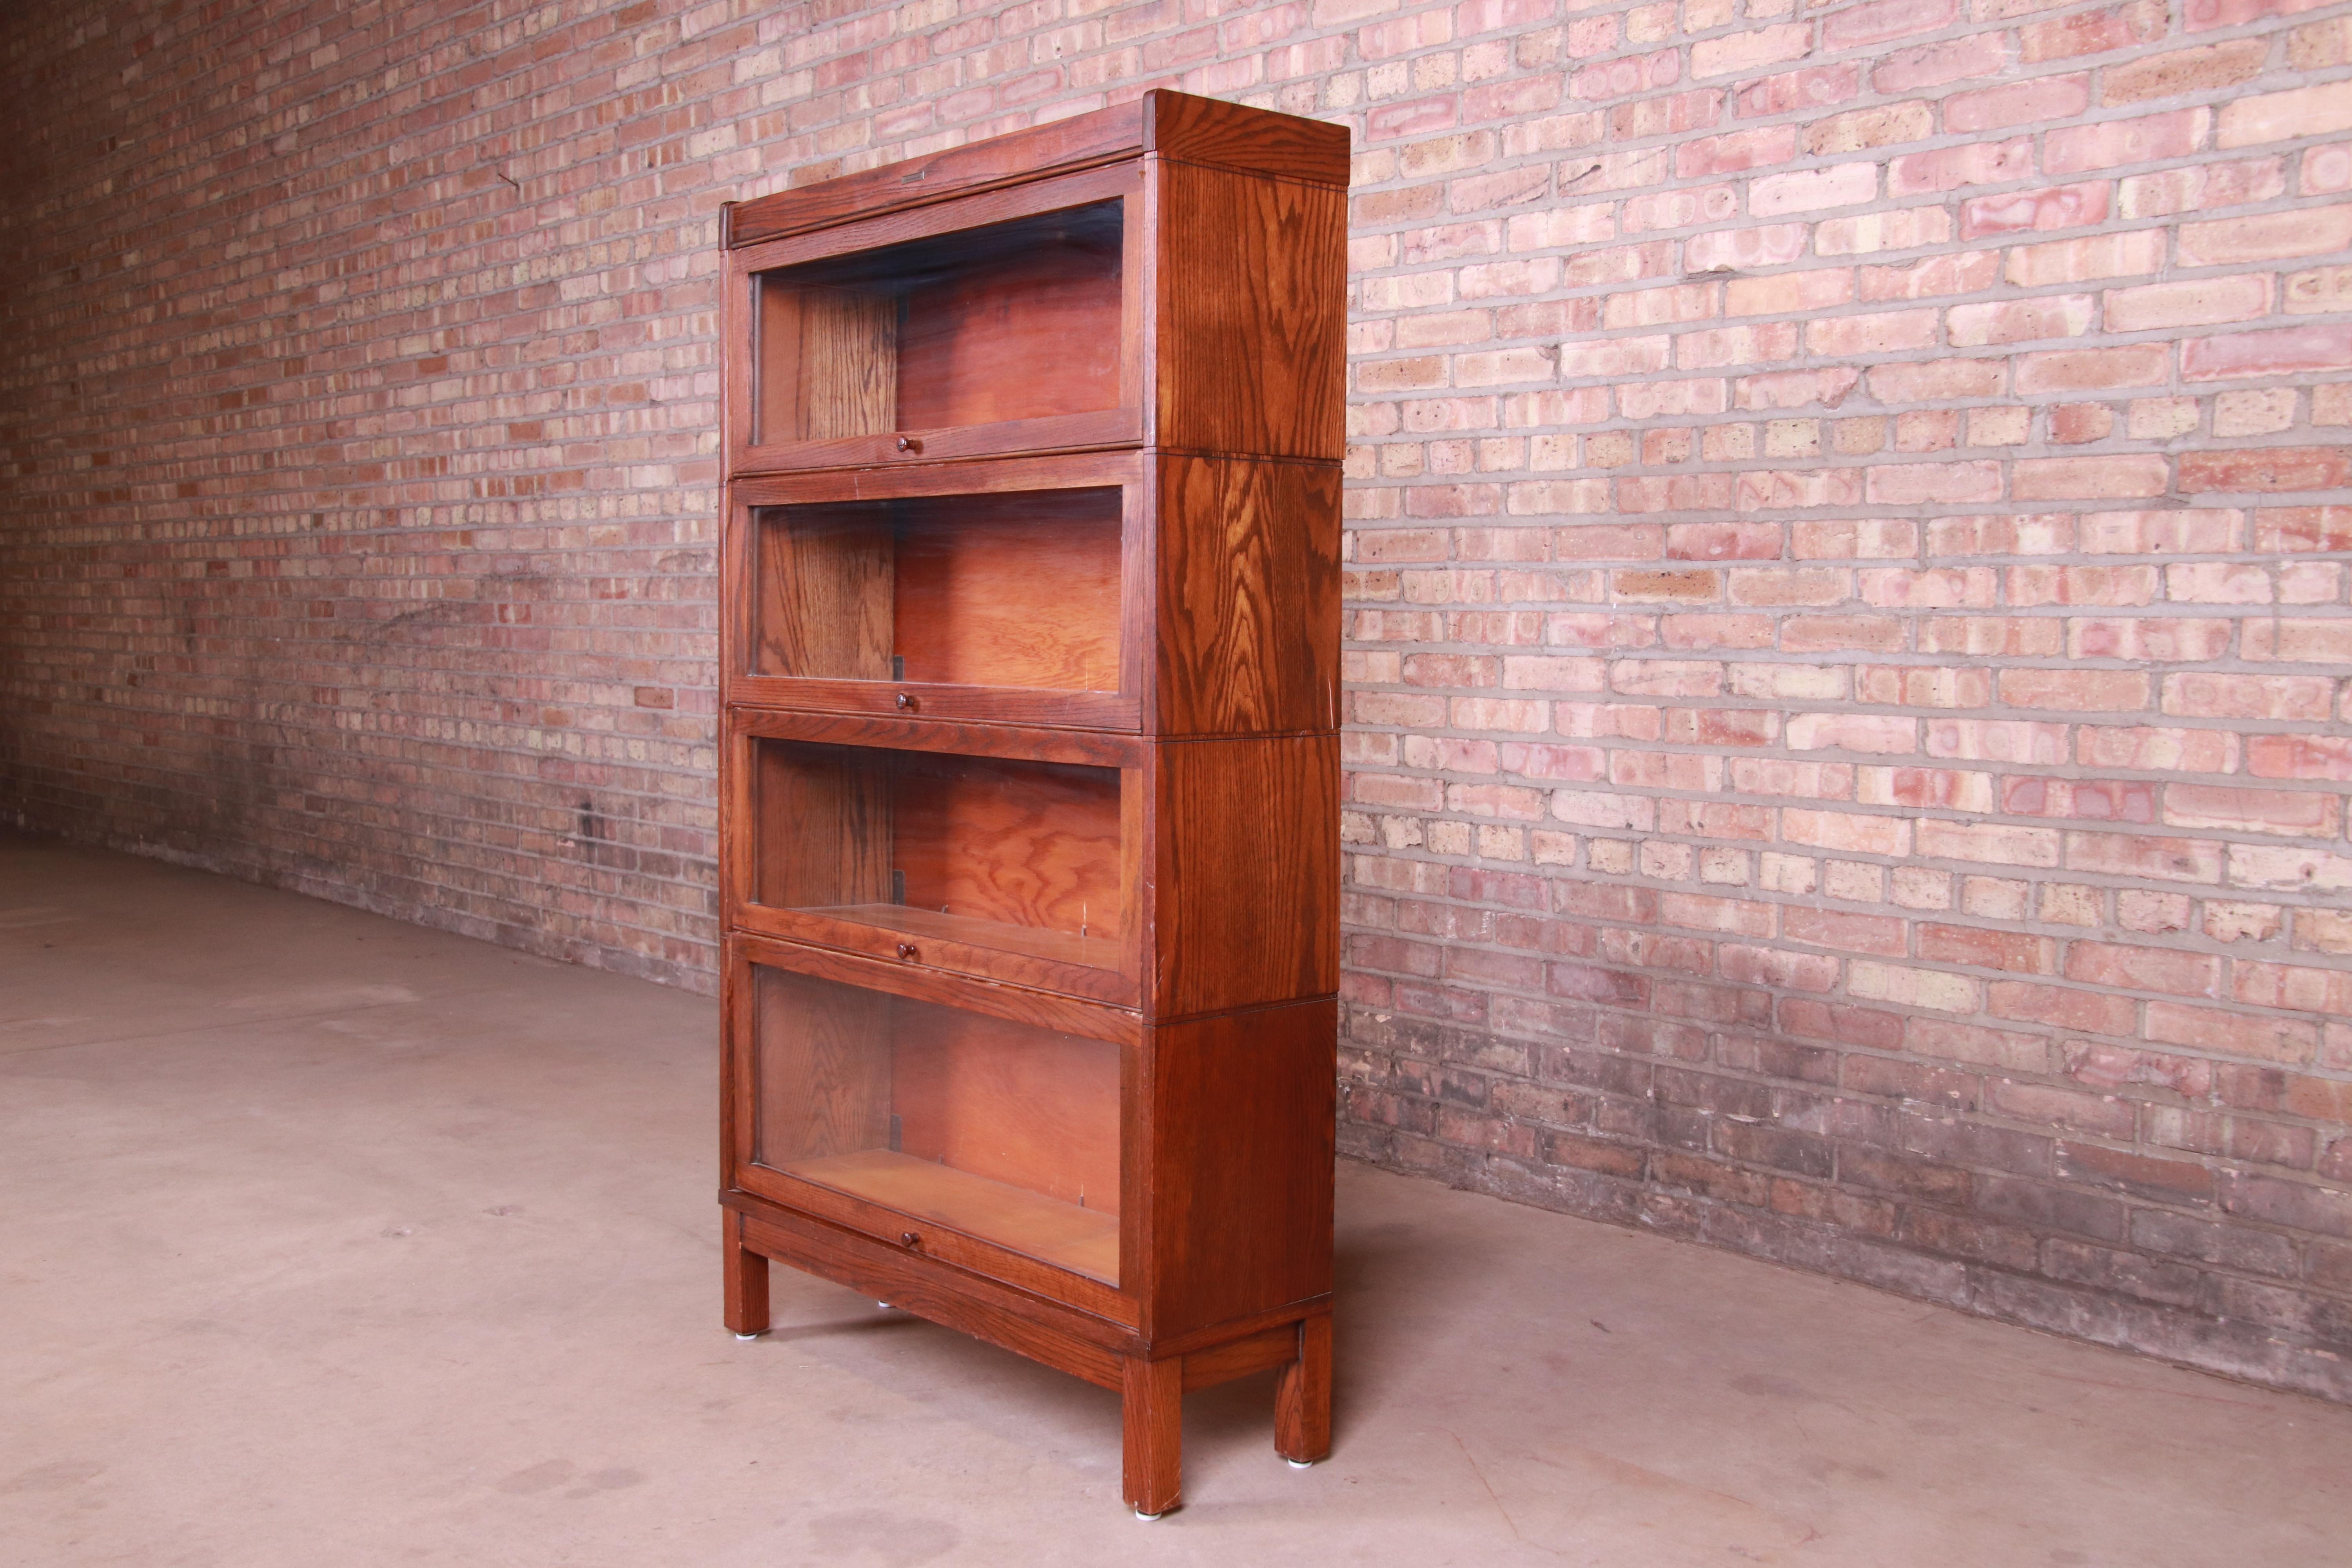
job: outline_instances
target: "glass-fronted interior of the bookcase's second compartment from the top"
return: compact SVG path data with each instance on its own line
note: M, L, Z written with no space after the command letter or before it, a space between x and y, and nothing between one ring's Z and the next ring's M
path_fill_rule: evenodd
M1120 689L1117 487L755 517L750 675Z

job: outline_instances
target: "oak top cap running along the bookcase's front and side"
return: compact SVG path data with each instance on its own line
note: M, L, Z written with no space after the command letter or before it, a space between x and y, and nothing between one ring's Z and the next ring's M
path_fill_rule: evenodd
M908 162L861 169L727 207L727 247L922 207L990 186L1160 153L1183 162L1348 186L1348 129L1185 92L971 141Z

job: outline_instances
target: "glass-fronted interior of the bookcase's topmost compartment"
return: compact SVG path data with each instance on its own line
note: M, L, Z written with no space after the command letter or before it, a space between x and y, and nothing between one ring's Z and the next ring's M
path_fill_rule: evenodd
M1124 202L757 275L760 444L1120 407Z

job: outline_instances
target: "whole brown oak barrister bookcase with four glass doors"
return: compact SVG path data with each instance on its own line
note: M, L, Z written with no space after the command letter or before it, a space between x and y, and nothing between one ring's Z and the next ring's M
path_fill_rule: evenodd
M727 209L727 1324L769 1260L1329 1450L1348 134L1141 101Z

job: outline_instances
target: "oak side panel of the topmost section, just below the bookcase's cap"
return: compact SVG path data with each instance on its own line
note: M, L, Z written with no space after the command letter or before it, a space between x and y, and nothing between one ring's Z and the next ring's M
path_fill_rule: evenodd
M1160 165L1157 444L1336 463L1348 195Z

